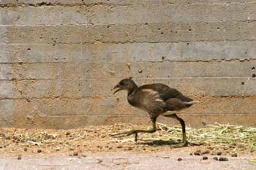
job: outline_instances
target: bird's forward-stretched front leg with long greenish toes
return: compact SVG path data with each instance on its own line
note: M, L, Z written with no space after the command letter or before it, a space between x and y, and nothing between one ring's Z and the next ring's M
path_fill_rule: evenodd
M130 131L124 131L124 132L121 132L121 133L118 133L118 134L110 134L110 136L123 137L123 136L130 136L132 134L135 134L135 142L137 142L138 133L154 133L155 131L157 131L157 125L156 125L157 117L153 117L153 118L151 118L151 120L152 120L153 128L150 129L150 130L132 129Z

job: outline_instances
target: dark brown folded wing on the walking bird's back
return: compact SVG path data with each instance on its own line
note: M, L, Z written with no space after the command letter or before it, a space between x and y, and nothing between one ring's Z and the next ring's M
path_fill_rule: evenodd
M161 83L155 83L151 85L143 85L140 86L138 90L146 90L148 89L153 92L156 92L158 94L159 99L162 99L163 101L166 101L170 98L179 98L181 101L192 101L191 98L188 98L187 96L184 96L181 92L176 90L175 88L170 88L167 85L161 84Z

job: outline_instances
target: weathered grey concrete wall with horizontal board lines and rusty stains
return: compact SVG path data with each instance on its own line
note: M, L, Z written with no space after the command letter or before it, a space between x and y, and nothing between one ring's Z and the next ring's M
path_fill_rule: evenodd
M200 100L187 125L256 125L256 0L0 0L0 39L1 126L146 123L131 76Z

